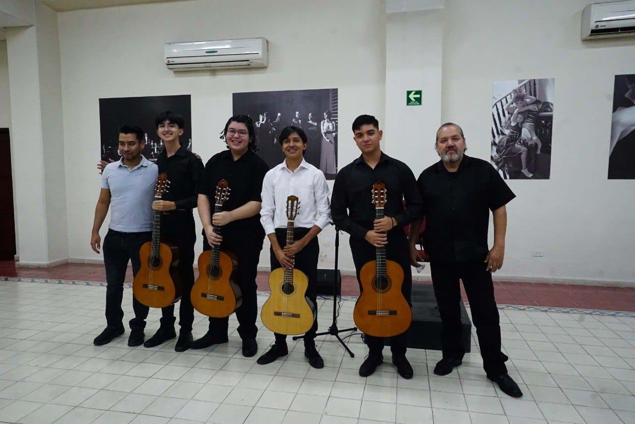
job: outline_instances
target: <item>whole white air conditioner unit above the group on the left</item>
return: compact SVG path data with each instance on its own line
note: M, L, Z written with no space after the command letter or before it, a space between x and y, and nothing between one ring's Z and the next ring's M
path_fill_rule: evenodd
M264 68L269 64L268 52L266 38L192 41L164 46L165 64L172 71Z

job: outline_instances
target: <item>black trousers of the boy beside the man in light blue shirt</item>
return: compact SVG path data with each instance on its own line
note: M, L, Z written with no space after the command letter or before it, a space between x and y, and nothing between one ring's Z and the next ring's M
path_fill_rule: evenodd
M194 285L194 243L196 243L196 228L194 227L192 211L171 210L164 214L161 217L161 239L170 240L178 246L178 273L183 283L178 325L181 327L181 332L191 332L194 322L194 306L192 306L190 292L192 285ZM137 299L133 299L133 302L138 303ZM149 310L149 306L138 303L135 313L137 311L139 313L136 313L134 323L131 322L131 326L143 329ZM161 308L161 327L163 329L173 328L175 321L173 304Z

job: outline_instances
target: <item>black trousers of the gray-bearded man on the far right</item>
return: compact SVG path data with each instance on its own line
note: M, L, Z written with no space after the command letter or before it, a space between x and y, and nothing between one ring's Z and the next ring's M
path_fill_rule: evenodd
M486 266L483 262L432 262L430 269L441 314L443 357L462 359L465 354L461 343L460 278L472 310L483 368L488 376L498 376L507 373L505 361L509 358L500 352L498 308Z

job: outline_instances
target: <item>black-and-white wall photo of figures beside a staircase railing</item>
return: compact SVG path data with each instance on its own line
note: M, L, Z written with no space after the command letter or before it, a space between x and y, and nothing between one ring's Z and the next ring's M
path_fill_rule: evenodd
M549 179L555 79L494 81L491 164L504 179Z

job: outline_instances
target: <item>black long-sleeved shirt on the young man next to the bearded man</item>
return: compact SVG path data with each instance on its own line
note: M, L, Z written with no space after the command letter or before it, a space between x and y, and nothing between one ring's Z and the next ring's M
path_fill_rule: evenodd
M331 215L335 225L361 239L373 229L375 205L371 189L378 181L384 182L387 190L384 215L394 217L398 227L422 215L415 175L408 165L382 153L374 169L359 156L338 172L331 197ZM403 206L404 199L407 208Z

